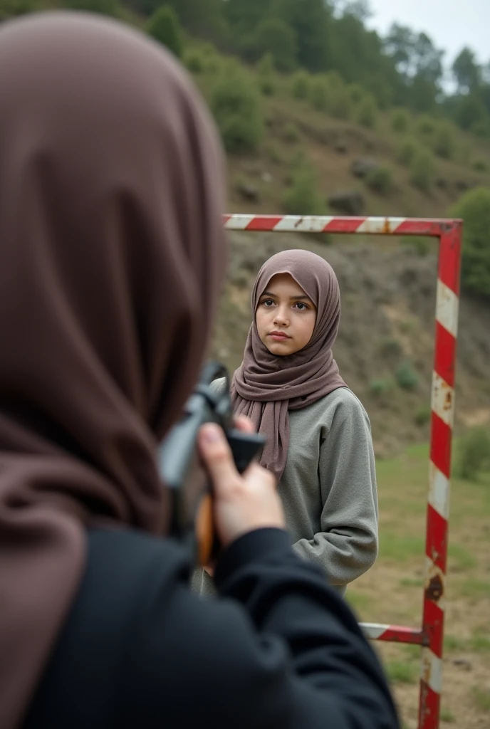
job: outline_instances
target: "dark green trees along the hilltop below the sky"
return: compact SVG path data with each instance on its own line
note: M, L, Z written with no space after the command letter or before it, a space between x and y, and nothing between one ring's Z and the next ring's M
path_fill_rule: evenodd
M279 72L336 71L351 92L356 85L357 98L351 95L351 101L363 104L359 121L367 126L376 121L373 109L405 106L416 113L446 115L464 130L490 138L490 64L479 66L472 51L464 48L451 68L456 92L445 96L443 51L427 34L397 23L386 37L368 29L368 4L363 0L0 0L0 20L46 7L132 17L129 10L135 18L148 18L168 7L187 34L250 63L270 53ZM372 95L368 101L366 93ZM339 118L350 117L343 98L335 106ZM397 114L394 129L405 133L406 120ZM438 144L441 156L448 156L446 141Z

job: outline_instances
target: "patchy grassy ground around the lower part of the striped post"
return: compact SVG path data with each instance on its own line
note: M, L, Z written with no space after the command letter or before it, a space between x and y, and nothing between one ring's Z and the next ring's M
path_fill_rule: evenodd
M349 601L364 622L419 626L424 584L427 446L378 461L381 547ZM441 728L490 727L490 473L478 483L453 479L446 584ZM400 706L415 729L418 647L377 643Z

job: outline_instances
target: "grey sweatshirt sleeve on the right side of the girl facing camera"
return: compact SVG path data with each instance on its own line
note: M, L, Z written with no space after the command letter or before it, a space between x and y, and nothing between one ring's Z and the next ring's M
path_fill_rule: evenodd
M378 496L368 414L354 394L338 402L319 456L321 529L300 539L297 553L346 585L367 572L378 555Z

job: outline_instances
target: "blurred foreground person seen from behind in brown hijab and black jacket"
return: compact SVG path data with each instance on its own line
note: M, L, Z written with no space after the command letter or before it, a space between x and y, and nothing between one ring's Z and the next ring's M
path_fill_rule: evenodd
M0 30L0 727L392 729L354 616L296 556L273 477L201 431L219 599L168 529L158 443L224 275L223 160L143 36ZM250 429L242 421L242 429Z

